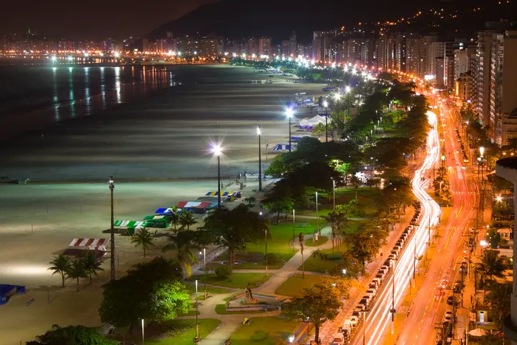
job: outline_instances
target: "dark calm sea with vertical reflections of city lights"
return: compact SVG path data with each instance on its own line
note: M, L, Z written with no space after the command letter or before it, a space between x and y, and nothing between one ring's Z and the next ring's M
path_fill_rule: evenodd
M0 127L6 140L88 116L176 84L181 66L0 66Z

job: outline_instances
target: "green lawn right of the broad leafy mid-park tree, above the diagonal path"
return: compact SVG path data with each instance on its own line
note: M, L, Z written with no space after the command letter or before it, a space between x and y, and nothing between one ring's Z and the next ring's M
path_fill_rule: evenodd
M304 227L296 227L294 228L294 236L295 243L299 248L298 234L301 232L303 234L313 234L314 229L316 229L316 219L304 219L300 221L300 223L307 223L308 226ZM298 224L298 222L297 222ZM325 221L320 221L319 226L322 227L325 225ZM268 253L276 253L282 256L284 261L288 261L293 257L294 251L292 246L290 246L290 242L293 240L293 224L291 222L271 225L269 227L269 231L271 233L271 239L268 239ZM297 249L298 249L297 248ZM248 252L258 252L264 254L266 252L266 246L263 243L261 244L248 244L246 251ZM273 268L273 267L271 267Z

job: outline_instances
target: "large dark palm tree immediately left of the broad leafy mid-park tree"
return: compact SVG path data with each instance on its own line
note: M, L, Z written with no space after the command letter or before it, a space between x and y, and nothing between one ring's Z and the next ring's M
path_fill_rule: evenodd
M194 244L194 231L180 231L178 234L169 235L169 244L166 244L162 251L174 251L176 259L184 270L187 277L191 276L192 264L198 262L194 250L199 250L199 246Z

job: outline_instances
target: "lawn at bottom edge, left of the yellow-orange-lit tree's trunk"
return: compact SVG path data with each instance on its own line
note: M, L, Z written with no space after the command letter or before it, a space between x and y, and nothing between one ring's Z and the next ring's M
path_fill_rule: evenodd
M240 326L231 335L232 345L273 345L275 339L287 340L298 326L296 321L287 321L280 317L254 317L251 324Z

